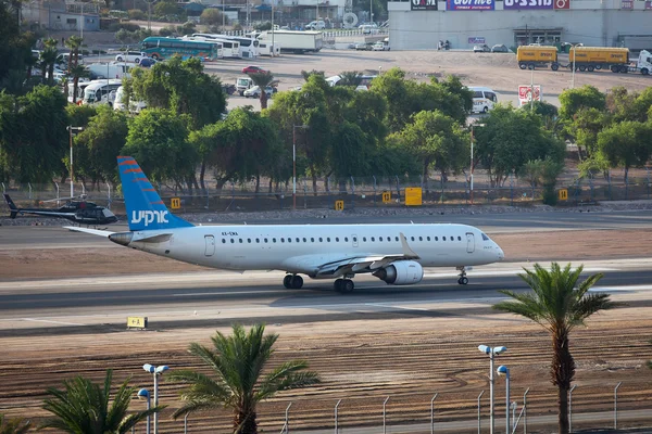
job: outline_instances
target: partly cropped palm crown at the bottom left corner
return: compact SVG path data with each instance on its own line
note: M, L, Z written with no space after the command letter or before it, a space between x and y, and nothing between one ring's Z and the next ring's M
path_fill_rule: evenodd
M53 427L71 434L123 434L131 431L138 422L148 416L161 411L164 406L127 414L129 403L136 393L129 387L127 379L117 390L113 403L109 406L112 370L106 371L103 386L83 376L63 382L64 390L50 387L51 398L43 401L43 409L55 418L43 422L39 429Z

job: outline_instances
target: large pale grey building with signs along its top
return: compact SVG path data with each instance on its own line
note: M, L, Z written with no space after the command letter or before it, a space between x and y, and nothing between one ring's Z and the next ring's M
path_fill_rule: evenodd
M392 50L451 49L476 43L652 48L652 1L641 0L390 0Z

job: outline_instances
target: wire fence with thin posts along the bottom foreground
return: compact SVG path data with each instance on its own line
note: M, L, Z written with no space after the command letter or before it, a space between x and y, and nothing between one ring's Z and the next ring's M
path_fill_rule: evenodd
M496 433L549 433L557 425L556 390L512 384L507 411L504 378L494 383ZM568 393L570 432L628 432L652 426L652 391L635 383L604 382L574 385ZM489 387L466 393L399 393L348 395L333 398L296 397L259 405L262 431L280 434L322 433L488 433ZM165 420L166 418L164 418ZM227 432L228 410L166 420L165 432ZM220 426L216 426L220 425ZM224 424L224 426L222 426ZM507 429L509 426L509 429ZM137 431L138 430L137 427ZM650 432L649 430L643 432Z

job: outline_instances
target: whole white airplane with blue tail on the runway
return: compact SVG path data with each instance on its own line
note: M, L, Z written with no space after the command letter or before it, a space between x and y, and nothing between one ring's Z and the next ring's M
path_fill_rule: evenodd
M473 266L500 261L500 246L466 225L238 225L193 226L167 210L129 156L118 156L128 232L67 227L114 243L185 263L227 270L283 270L287 289L311 279L335 279L353 291L351 278L372 273L388 284L422 281L424 267L455 267L467 284Z

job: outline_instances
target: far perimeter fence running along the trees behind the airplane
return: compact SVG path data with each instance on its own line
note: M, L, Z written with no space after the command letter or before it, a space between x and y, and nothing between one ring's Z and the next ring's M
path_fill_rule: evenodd
M291 181L268 182L259 187L255 182L228 181L217 189L214 181L205 182L206 189L175 188L155 184L159 194L170 206L173 197L180 200L180 213L229 213L285 209L335 209L341 204L342 210L359 207L396 208L405 206L405 189L422 189L422 207L432 209L455 205L505 205L528 206L540 204L543 189L526 180L510 176L501 186L492 186L487 174L474 176L471 190L468 178L454 176L449 179L424 179L422 177L350 177L347 179L299 178L296 194ZM65 202L70 196L70 183L11 184L1 183L3 193L9 193L18 206L55 206L57 197ZM593 205L603 201L649 200L652 199L652 183L648 169L630 175L625 182L623 174L592 178L560 179L557 192L565 190L560 206ZM75 195L85 194L88 201L108 206L115 213L124 213L124 200L120 188L100 183L99 189L87 189L75 183ZM43 201L50 201L43 203ZM339 202L341 201L341 202Z

